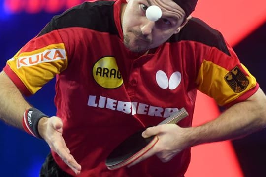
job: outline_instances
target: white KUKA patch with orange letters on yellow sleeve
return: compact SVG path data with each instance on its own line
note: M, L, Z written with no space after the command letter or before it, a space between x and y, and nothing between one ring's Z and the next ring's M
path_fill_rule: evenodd
M25 55L22 53L22 55ZM17 68L22 66L32 66L43 62L52 62L66 59L64 49L50 49L30 56L21 56L17 59Z

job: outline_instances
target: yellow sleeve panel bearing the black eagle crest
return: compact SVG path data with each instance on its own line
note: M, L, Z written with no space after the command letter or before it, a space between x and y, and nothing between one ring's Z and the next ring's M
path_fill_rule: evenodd
M233 77L228 78L229 75L233 75ZM242 64L228 71L211 61L204 60L199 69L196 83L199 91L214 98L220 106L223 106L254 88L256 79Z

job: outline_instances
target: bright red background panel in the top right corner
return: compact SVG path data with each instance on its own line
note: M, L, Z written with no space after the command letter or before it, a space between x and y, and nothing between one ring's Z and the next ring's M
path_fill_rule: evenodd
M266 21L266 0L199 0L193 15L235 45Z

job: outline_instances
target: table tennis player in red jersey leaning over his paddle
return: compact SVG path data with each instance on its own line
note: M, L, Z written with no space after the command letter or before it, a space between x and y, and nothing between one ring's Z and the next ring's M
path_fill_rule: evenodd
M219 31L190 14L197 0L85 2L50 23L0 73L0 117L51 148L40 176L183 177L190 147L237 138L266 126L266 97ZM150 21L151 5L162 17ZM57 115L22 95L57 77ZM227 107L191 127L197 89ZM22 93L22 94L21 94ZM157 125L184 107L178 125ZM23 118L22 118L23 117ZM147 128L159 141L129 167L105 159Z

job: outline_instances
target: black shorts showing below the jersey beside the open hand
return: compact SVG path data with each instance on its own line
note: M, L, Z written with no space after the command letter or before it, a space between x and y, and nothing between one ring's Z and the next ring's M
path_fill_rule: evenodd
M41 166L39 177L73 177L68 173L61 170L61 168L55 162L51 153L45 159L45 162Z

